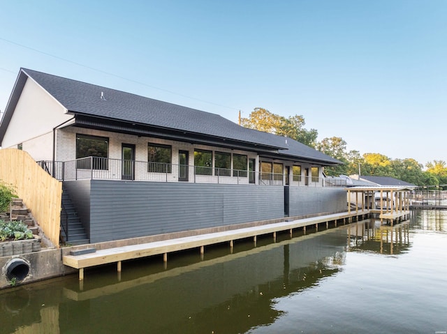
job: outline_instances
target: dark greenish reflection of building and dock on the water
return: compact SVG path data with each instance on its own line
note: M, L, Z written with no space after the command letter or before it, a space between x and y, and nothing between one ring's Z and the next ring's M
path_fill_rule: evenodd
M232 254L211 248L203 259L182 252L166 269L153 257L129 261L119 276L113 266L93 269L81 285L73 275L0 291L0 333L244 333L281 315L277 298L341 271L346 250L399 254L410 245L406 222L296 235L241 242Z

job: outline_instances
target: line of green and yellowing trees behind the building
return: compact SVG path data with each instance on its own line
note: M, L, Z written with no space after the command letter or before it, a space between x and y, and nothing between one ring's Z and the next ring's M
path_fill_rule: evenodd
M443 160L427 162L423 170L424 165L412 158L392 159L381 153L347 151L347 143L341 137L323 138L318 142L318 131L307 130L302 115L284 117L256 107L249 117L240 119L240 125L295 139L343 162L343 165L325 167L328 176L390 176L418 186L447 185L447 165Z

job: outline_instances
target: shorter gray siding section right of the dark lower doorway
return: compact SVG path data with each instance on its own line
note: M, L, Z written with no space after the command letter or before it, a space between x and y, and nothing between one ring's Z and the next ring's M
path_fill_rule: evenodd
M342 188L288 187L291 217L346 211L346 205L346 190Z

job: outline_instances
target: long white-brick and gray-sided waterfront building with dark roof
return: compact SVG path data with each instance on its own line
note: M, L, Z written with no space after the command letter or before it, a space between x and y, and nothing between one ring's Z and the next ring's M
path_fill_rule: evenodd
M35 70L17 76L0 145L29 153L63 183L65 243L200 234L346 211L346 184L323 174L341 162L309 146Z

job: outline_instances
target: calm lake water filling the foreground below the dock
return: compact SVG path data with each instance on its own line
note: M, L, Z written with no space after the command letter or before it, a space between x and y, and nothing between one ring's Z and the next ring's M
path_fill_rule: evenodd
M0 333L447 333L447 211L0 291Z

